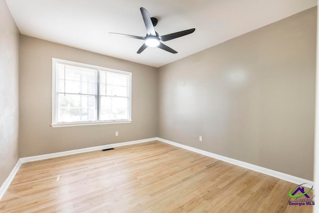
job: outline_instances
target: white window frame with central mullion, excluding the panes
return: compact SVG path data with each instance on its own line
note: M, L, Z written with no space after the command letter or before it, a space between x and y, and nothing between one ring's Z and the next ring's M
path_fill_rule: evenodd
M128 109L128 114L129 114L129 119L128 120L112 120L112 121L84 121L84 122L72 122L72 123L56 123L56 77L57 77L57 72L56 72L56 64L57 63L63 63L67 65L72 65L72 66L79 66L79 67L84 67L84 68L90 68L90 69L97 69L98 70L98 79L97 79L97 87L98 87L98 93L97 93L97 106L100 105L100 71L109 71L109 72L114 72L114 73L120 73L120 74L126 74L130 76L130 92L129 92L129 109ZM99 118L100 114L100 109L99 107L97 108L97 118ZM71 127L71 126L87 126L87 125L101 125L101 124L123 124L123 123L131 123L132 122L132 72L127 72L127 71L122 71L122 70L116 70L116 69L111 69L111 68L106 68L106 67L101 67L101 66L95 66L95 65L90 65L90 64L84 64L84 63L79 63L79 62L74 62L74 61L68 61L68 60L63 60L63 59L58 59L58 58L52 58L52 127Z

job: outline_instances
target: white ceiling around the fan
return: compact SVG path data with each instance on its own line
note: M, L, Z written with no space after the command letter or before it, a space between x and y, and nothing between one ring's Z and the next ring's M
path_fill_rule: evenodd
M160 67L238 35L317 5L317 0L6 0L21 34L129 61ZM140 12L159 19L155 30L195 32L137 50L142 40L110 35L145 36Z

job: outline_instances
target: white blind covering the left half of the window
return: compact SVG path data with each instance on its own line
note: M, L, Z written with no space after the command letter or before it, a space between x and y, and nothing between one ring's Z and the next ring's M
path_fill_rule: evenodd
M57 123L97 121L98 70L57 64Z

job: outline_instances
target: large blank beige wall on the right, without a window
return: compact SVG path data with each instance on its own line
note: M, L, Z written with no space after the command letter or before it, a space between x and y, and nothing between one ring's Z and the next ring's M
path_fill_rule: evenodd
M159 137L313 180L316 18L314 7L160 67Z

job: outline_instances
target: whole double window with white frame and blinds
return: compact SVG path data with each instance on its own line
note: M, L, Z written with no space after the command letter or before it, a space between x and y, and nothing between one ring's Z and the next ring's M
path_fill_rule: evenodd
M52 127L131 122L132 73L52 58Z

